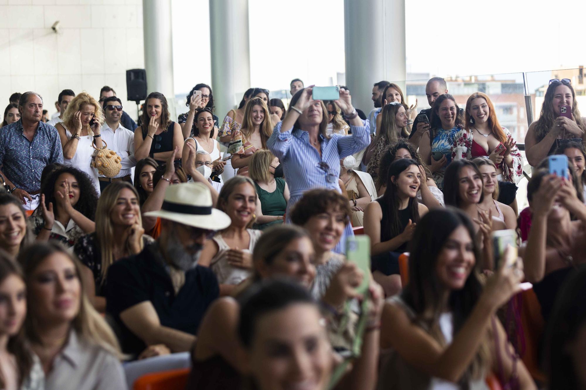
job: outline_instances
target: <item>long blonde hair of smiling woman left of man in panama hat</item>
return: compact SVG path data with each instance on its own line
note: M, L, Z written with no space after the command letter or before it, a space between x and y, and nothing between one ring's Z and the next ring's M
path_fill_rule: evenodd
M116 206L116 201L118 200L118 196L120 196L120 192L124 189L131 190L137 197L138 201L139 196L137 189L135 189L132 184L128 182L113 182L102 191L100 199L98 199L98 206L96 207L96 240L102 254L102 284L105 281L108 268L110 268L115 261L113 251L114 227L112 225L110 214L112 213L114 206ZM141 213L138 213L138 224L142 226ZM140 246L142 250L142 240L140 240ZM130 248L126 249L130 253Z

